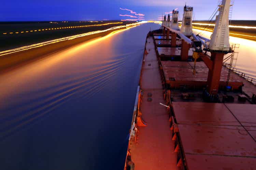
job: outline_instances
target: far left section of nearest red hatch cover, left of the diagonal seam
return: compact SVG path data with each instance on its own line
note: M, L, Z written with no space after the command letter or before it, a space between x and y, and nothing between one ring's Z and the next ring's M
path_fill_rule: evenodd
M240 126L223 103L173 102L177 123Z

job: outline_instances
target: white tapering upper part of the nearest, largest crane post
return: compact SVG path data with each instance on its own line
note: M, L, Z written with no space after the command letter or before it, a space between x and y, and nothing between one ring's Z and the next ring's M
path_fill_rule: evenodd
M230 0L222 0L219 5L219 15L211 35L209 49L217 51L229 51L229 7Z

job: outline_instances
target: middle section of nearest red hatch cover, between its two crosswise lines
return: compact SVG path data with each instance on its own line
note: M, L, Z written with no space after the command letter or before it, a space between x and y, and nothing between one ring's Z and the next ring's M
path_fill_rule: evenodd
M242 126L179 124L185 153L256 157L256 143Z

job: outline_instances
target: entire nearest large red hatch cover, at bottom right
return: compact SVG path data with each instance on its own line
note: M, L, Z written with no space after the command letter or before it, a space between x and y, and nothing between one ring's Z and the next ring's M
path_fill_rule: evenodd
M178 147L189 169L256 167L256 105L201 102L172 102L172 105L179 129L175 143L181 143Z

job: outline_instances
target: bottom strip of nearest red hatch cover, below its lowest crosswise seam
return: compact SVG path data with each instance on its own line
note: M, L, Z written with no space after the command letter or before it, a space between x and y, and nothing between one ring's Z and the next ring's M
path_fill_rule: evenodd
M255 170L256 158L186 154L189 170Z

